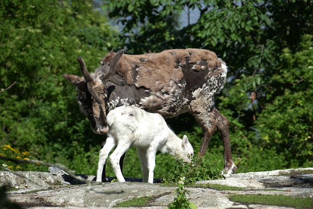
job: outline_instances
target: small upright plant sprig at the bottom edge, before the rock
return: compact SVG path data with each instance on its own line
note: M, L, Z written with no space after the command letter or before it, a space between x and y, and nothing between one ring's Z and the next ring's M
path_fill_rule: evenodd
M178 188L175 190L174 195L176 195L174 201L169 205L168 209L197 209L194 203L188 201L186 194L189 191L184 187L185 177L181 177L178 182Z

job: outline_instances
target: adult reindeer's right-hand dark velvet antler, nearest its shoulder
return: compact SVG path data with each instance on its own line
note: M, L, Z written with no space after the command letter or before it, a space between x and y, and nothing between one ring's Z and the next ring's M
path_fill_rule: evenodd
M124 49L120 49L116 52L116 54L114 55L112 61L111 61L111 65L110 65L110 70L106 75L101 75L100 79L102 80L102 82L105 81L111 81L112 83L119 85L119 86L125 86L126 82L124 80L120 80L114 77L115 72L116 72L116 68L117 68L117 63L119 61L119 59L121 58L121 56L124 53Z

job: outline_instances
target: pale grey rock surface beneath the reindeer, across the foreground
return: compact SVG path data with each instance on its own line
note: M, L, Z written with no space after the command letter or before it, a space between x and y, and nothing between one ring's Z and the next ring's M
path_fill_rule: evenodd
M141 179L126 178L126 183L86 184L94 176L78 175L77 180L67 173L49 169L47 172L0 172L0 186L18 188L8 191L7 197L25 208L33 209L110 209L126 200L151 196L141 209L165 209L174 200L177 187L138 183ZM188 200L199 209L286 209L264 205L243 205L229 200L231 194L288 195L313 198L313 168L250 172L231 175L223 180L197 182L199 187L187 187ZM109 178L111 180L112 178ZM159 182L159 180L156 180ZM240 187L238 190L216 190L209 185ZM313 206L312 206L313 207Z

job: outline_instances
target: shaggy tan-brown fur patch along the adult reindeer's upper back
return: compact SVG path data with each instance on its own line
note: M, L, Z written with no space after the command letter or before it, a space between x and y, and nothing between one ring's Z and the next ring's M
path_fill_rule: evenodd
M101 63L111 63L115 53L106 55ZM182 67L186 61L193 65L192 70L200 71L220 67L216 54L204 49L170 49L160 53L142 55L123 54L118 62L116 72L120 74L128 85L160 91L170 80L179 83L183 77ZM201 65L205 61L206 65ZM203 63L202 63L203 64ZM137 72L136 81L133 80L134 70Z

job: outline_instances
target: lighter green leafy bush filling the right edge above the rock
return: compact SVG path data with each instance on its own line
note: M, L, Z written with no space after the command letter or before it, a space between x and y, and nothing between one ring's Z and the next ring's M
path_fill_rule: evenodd
M306 35L300 51L284 49L270 79L274 87L256 120L256 142L289 159L287 166L313 165L313 36Z

